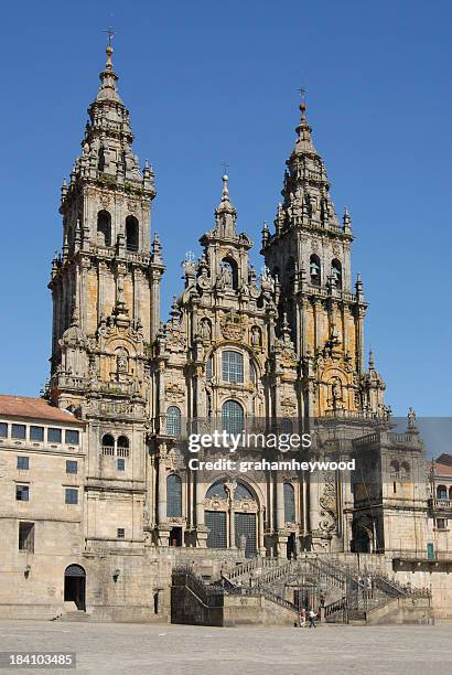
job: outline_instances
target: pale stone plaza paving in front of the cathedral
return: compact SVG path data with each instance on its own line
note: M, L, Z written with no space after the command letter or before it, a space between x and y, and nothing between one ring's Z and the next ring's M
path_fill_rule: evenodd
M74 669L2 673L300 675L452 673L452 626L214 629L0 621L0 651L77 652Z

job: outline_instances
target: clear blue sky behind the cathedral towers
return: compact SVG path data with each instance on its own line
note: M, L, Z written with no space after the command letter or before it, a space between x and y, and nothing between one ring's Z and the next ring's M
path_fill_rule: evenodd
M409 405L451 415L451 19L446 0L6 4L1 393L33 396L47 377L60 186L112 24L134 149L155 170L163 315L185 251L197 254L213 226L225 160L239 228L259 245L303 86L336 210L346 204L353 217L354 274L370 302L366 343L387 401L402 416Z

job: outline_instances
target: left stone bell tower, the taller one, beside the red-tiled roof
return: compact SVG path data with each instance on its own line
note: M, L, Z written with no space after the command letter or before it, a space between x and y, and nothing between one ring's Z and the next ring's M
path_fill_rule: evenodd
M77 407L87 392L146 397L144 356L160 324L163 272L150 251L152 169L132 151L129 111L111 54L69 183L62 188L63 249L52 264L52 397Z

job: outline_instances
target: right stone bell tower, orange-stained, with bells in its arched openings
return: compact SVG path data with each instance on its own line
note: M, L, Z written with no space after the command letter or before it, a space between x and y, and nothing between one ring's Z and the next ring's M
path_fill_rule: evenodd
M364 369L367 302L351 271L352 221L337 218L324 162L311 138L305 105L287 161L275 233L262 229L262 254L281 283L280 307L291 326L309 417L385 414L385 384ZM370 386L372 385L372 386ZM370 392L372 389L372 392Z

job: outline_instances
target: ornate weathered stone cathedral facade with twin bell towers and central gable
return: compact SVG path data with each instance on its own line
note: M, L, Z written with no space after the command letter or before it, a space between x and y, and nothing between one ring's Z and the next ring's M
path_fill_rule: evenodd
M57 575L88 568L89 601L101 606L117 600L100 587L114 578L118 589L127 569L136 579L127 602L142 603L149 586L158 612L179 549L208 560L424 547L423 446L413 415L406 433L391 432L373 354L365 363L352 221L336 215L305 106L273 226L261 233L262 271L224 175L212 228L200 233L198 256L186 256L162 322L154 175L133 153L111 53L62 188L63 246L50 281L46 396L83 438L78 543L62 549ZM354 460L359 471L190 469L190 433L218 428L309 433L303 458Z

